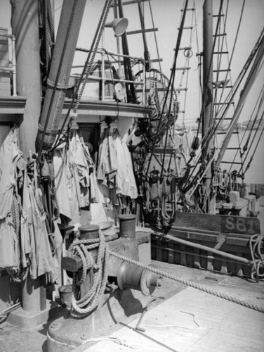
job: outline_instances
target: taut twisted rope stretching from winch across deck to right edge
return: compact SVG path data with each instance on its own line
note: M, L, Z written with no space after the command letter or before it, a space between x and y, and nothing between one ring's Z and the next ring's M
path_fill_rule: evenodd
M242 301L241 299L239 299L237 297L233 297L233 296L230 296L228 294L224 294L222 292L214 291L213 289L211 289L209 287L204 287L204 286L202 286L200 284L197 284L196 282L191 282L191 281L189 281L187 279L184 279L183 277L179 277L179 276L176 276L176 275L169 274L168 272L165 272L163 270L159 270L157 268L152 268L152 267L147 266L145 264L139 263L136 260L121 256L121 254L118 254L118 253L110 251L110 255L114 256L115 258L121 259L121 260L126 260L128 263L137 265L140 268L143 268L143 269L149 270L151 272L154 272L157 275L161 275L161 276L167 277L168 279L172 279L172 280L174 280L176 282L180 282L181 284L185 284L187 286L193 287L194 289L199 289L200 291L206 292L207 294L212 294L213 296L217 296L217 297L223 298L223 299L225 299L227 301L230 301L230 302L233 302L233 303L237 303L240 306L244 306L246 308L251 308L253 310L257 310L260 313L264 313L264 308L256 306L253 303Z

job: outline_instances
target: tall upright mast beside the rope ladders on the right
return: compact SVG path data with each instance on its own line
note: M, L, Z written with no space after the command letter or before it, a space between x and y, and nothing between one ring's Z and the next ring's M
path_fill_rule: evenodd
M204 87L204 101L202 113L202 138L209 131L212 124L213 112L213 1L204 0L203 6L203 87ZM211 139L209 144L204 144L204 155L206 155L206 162L209 162L211 152L213 151L214 140ZM204 186L206 187L208 203L206 208L209 213L214 213L213 202L211 197L211 168L208 168L204 176Z

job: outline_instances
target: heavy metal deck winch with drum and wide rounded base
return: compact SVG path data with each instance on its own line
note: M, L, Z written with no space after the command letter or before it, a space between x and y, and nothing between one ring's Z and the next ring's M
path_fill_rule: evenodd
M81 226L75 242L79 241L81 246L85 246L86 240L96 241L102 236L102 232L98 225ZM150 232L136 230L136 215L132 214L119 215L119 227L107 232L104 237L107 251L118 253L128 260L139 261L140 246L150 244ZM80 301L93 288L93 274L98 270L98 251L98 247L88 249L93 258L93 266L86 271L84 282L80 286ZM69 276L81 276L83 263L83 258L77 253L62 258L62 268L67 270ZM51 323L48 329L48 352L71 351L84 341L84 337L91 339L103 336L107 329L126 318L127 312L129 315L142 312L146 296L150 296L155 288L161 287L159 275L111 255L106 272L108 284L97 308L82 317L76 317L71 308L67 319L62 317Z

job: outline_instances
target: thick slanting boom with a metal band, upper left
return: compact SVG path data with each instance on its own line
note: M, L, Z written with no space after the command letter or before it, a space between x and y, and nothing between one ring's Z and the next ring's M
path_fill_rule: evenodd
M37 149L48 149L58 134L81 19L86 0L63 1L56 42L48 76L44 106L39 121Z

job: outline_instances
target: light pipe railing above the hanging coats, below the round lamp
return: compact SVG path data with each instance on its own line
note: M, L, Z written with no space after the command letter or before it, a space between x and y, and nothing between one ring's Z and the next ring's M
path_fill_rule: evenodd
M137 84L137 85L140 85L142 86L142 96L143 96L143 99L142 99L142 103L143 105L145 105L145 60L143 58L140 58L140 57L137 57L137 56L130 56L130 55L125 55L125 54L117 54L117 53L112 53L112 52L109 52L109 51L105 51L104 49L98 49L96 51L91 51L89 49L84 49L84 48L77 48L76 49L77 51L83 51L83 52L86 52L86 53L89 53L89 52L92 52L92 53L95 53L95 54L99 54L99 59L97 61L94 61L94 64L95 63L98 63L100 62L101 64L101 70L100 70L100 75L93 75L93 69L91 69L91 74L88 75L88 80L86 82L86 84L89 84L89 82L91 81L98 81L98 82L101 82L101 90L100 90L100 100L101 101L105 101L105 100L109 100L109 98L106 99L105 97L105 84L109 84L109 83L112 83L112 84L115 84L117 82L120 82L121 84ZM112 57L112 58L117 58L117 60L115 61L109 61L109 60L105 60L105 56L107 57ZM125 78L123 77L119 77L119 78L114 78L113 76L112 77L107 77L105 75L106 71L105 71L105 68L106 68L106 65L105 63L107 64L111 64L114 66L114 63L118 65L118 68L121 68L121 65L122 65L122 60L121 59L124 59L124 58L128 58L129 60L131 61L136 61L138 63L141 63L142 64L142 67L143 67L143 81L142 82L138 82L136 80L126 80ZM84 68L84 65L73 65L72 66L72 69L79 69L79 68ZM74 78L78 78L80 77L79 74L71 74L71 77L74 77ZM114 100L114 99L112 99Z

